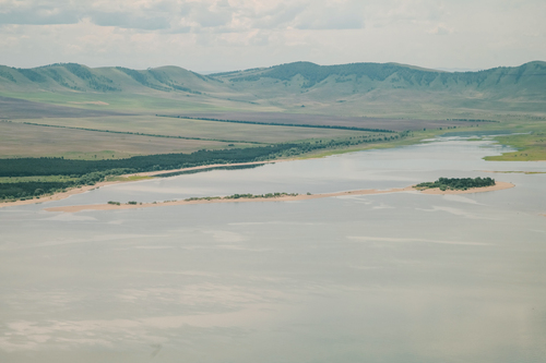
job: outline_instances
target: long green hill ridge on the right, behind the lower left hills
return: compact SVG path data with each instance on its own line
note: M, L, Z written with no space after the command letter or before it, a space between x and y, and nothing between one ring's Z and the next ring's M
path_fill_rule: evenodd
M287 108L349 114L381 108L401 113L438 109L546 111L546 62L479 72L441 72L395 63L309 62L213 74L239 92ZM344 104L344 105L339 105Z

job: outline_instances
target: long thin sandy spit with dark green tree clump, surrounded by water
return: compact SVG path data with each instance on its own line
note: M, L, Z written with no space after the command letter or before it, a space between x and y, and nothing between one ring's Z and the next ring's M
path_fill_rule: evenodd
M181 201L165 201L165 202L153 202L153 203L139 203L135 201L131 201L128 202L127 204L110 201L107 204L51 207L51 208L46 208L45 210L76 213L82 210L112 210L112 209L117 210L117 209L132 209L132 208L143 208L143 207L158 207L158 206L188 205L188 204L233 203L233 202L290 202L290 201L295 202L295 201L318 199L318 198L325 198L333 196L354 196L354 195L370 195L370 194L385 194L385 193L415 192L415 191L419 191L425 194L462 194L462 193L498 191L513 186L514 184L512 183L495 182L495 180L490 178L485 178L485 179L440 178L436 182L420 183L417 185L412 185L406 187L395 187L389 190L368 189L368 190L322 193L322 194L311 194L311 193L307 194L268 193L258 195L233 194L228 196L190 197Z

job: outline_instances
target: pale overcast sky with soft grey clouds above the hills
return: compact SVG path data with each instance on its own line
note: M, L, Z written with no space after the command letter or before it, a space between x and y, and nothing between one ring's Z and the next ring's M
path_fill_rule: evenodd
M0 0L0 64L197 72L546 60L546 0Z

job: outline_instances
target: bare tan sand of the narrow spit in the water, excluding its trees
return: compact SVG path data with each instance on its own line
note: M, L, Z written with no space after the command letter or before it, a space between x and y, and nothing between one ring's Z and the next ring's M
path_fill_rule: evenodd
M443 194L470 194L470 193L483 193L500 191L505 189L514 187L515 185L508 182L497 182L492 186L486 187L474 187L466 191L440 191L439 189L419 191L414 187L414 185L406 187L394 187L389 190L357 190L357 191L346 191L336 193L322 193L322 194L300 194L290 196L280 196L280 197L256 197L256 198L237 198L237 199L199 199L199 201L174 201L174 202L163 202L163 203L142 203L142 204L91 204L91 205L74 205L74 206L63 206L63 207L51 207L45 208L47 211L62 211L62 213L78 213L83 210L119 210L119 209L136 209L136 208L151 208L151 207L163 207L163 206L175 206L175 205L193 205L193 204L214 204L214 203L250 203L250 202L299 202L309 199L319 199L335 196L353 196L353 195L375 195L375 194L388 194L388 193L402 193L402 192L419 192L422 194L431 195L443 195Z

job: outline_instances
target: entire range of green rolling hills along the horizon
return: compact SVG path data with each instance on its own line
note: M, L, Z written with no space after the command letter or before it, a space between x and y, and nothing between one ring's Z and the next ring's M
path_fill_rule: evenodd
M109 111L256 111L449 118L546 113L546 62L479 72L295 62L203 76L178 68L0 66L4 97Z

